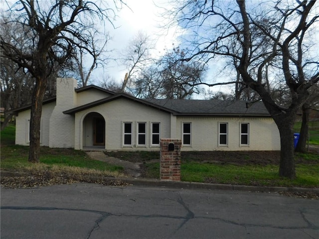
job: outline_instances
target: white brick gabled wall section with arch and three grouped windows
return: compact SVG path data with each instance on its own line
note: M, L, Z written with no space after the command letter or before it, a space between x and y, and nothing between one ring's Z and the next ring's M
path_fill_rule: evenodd
M142 104L134 103L126 99L119 99L104 105L93 107L91 109L75 114L75 148L80 149L83 146L83 119L90 112L101 114L106 123L106 149L108 150L160 150L159 147L150 147L151 145L151 122L160 122L160 137L170 137L170 114L161 112ZM123 146L123 122L132 122L133 127L133 147ZM137 147L137 123L146 122L147 125L147 145L146 147ZM84 135L85 136L85 135Z

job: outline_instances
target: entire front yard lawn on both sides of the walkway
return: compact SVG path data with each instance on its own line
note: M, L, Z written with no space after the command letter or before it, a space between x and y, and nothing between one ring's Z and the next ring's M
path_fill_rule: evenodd
M124 160L144 162L142 164L144 177L160 177L159 152L108 152L107 154ZM90 172L93 174L104 172L104 175L114 177L121 176L123 171L122 167L88 158L81 150L41 147L40 155L40 164L29 163L27 161L28 146L14 145L14 126L9 126L1 131L0 167L2 170L14 169L34 172L44 167L52 170L68 170L73 174L83 173L83 170L84 172L91 170ZM183 157L182 153L181 180L257 186L319 187L318 153L296 153L297 178L294 180L278 176L278 160L266 162L265 156L273 159L274 155L276 153L264 152L264 158L259 159L261 152L254 152L253 155L253 152L247 151L237 153L235 158L231 152L223 152L222 158L225 160L218 163L209 160L208 154L202 156L199 155L199 152L191 152ZM231 162L229 162L229 157L233 159ZM258 163L256 160L248 162L251 158L257 158L262 163Z

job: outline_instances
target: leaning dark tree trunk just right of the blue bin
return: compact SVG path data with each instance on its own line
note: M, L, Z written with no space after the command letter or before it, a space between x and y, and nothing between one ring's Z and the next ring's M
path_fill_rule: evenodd
M299 134L299 140L296 146L296 152L306 152L306 142L308 137L308 129L309 129L309 104L305 103L302 106L303 110L303 121L301 123L301 129Z

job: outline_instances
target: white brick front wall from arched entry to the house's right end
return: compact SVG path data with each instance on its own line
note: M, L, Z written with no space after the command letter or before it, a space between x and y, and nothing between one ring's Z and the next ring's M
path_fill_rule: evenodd
M151 122L160 122L161 138L182 138L182 122L191 122L191 146L186 150L280 150L279 131L273 119L269 118L216 118L171 116L159 110L143 106L126 99L119 99L100 105L75 116L75 148L83 148L83 119L90 112L101 114L106 121L105 141L107 150L159 150L151 147ZM123 122L132 122L133 146L123 146ZM137 145L137 123L147 123L147 145ZM228 145L218 145L218 123L228 123ZM249 145L240 145L240 123L249 123ZM172 133L175 132L175 135Z

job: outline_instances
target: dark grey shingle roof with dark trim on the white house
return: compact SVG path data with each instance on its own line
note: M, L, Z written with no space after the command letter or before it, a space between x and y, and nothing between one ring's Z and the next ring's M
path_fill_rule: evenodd
M89 109L98 105L102 105L119 98L125 98L136 103L158 109L173 115L180 116L262 116L270 117L262 102L247 103L245 101L221 101L221 100L177 100L177 99L138 99L125 93L116 94L114 92L105 90L103 88L91 85L76 89L75 92L97 89L111 94L111 96L104 99L85 104L67 111L63 114L75 114L76 112ZM52 97L45 101L47 104L55 101L56 98ZM30 109L31 105L20 107L12 110L11 114L16 114L21 111Z

